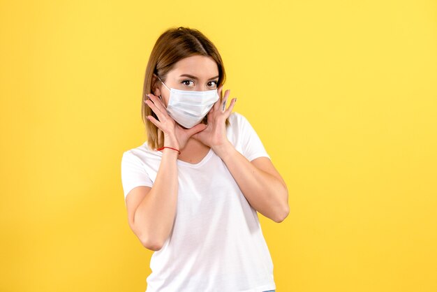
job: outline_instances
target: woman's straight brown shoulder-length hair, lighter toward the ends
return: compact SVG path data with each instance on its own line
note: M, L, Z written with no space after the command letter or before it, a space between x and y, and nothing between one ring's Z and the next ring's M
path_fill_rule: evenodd
M165 82L168 72L172 70L177 61L196 54L212 57L216 61L218 66L217 88L223 85L226 75L221 56L216 46L197 29L189 29L188 27L168 29L159 36L154 48L151 50L142 91L141 112L142 121L145 123L147 132L147 144L152 149L163 147L163 132L147 119L148 115L158 119L153 110L149 108L149 105L145 103L146 94L154 94L153 89L156 82L158 82L153 75L157 75ZM223 93L220 100L222 98ZM202 120L202 123L207 124L207 117ZM228 125L229 122L226 120L226 126Z

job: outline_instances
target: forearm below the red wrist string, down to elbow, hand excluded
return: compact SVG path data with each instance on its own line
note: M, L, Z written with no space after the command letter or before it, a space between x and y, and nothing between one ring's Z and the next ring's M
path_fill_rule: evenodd
M177 152L163 149L156 180L135 211L135 228L149 247L161 249L170 235L177 208Z

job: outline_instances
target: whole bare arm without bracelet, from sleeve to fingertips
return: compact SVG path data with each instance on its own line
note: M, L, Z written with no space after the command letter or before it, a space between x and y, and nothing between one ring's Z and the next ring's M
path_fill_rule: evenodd
M223 87L218 88L221 95ZM230 90L225 91L208 113L207 129L196 133L193 138L209 145L225 162L242 193L251 206L265 217L281 222L289 212L288 190L281 175L267 157L249 161L240 154L226 136L225 120L230 116L237 98L232 98L225 110Z

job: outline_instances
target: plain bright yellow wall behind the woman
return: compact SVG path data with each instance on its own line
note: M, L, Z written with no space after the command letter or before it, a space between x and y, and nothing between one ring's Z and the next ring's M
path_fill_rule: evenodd
M276 291L437 291L436 1L149 2L0 2L0 291L145 291L121 154L179 25L288 184L259 215Z

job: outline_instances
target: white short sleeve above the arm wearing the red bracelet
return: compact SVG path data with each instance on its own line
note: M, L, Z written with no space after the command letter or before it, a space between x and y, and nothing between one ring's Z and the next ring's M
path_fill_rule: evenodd
M124 152L121 158L121 184L123 185L124 200L126 200L129 191L135 187L153 186L142 161L130 151Z

